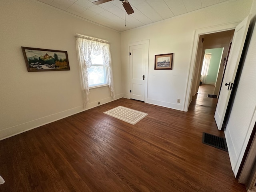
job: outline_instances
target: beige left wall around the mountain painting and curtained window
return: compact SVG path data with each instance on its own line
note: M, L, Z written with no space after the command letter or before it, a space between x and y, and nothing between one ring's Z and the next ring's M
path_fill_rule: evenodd
M0 139L81 112L76 33L110 42L116 98L122 97L120 33L34 0L0 6ZM70 71L27 72L21 46L65 50ZM108 87L90 90L87 108L109 102Z

